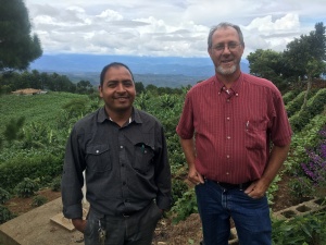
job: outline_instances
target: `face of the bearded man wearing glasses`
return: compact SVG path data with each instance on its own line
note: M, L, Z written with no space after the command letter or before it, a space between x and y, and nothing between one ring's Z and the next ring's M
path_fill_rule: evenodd
M240 44L239 35L235 28L216 29L212 36L212 48L208 50L216 73L231 75L236 71L240 71L239 65L243 49L244 47Z

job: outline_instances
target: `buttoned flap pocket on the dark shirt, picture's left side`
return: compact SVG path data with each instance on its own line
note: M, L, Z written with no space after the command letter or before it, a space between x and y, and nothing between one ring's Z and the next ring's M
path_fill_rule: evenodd
M111 171L112 162L109 145L92 145L86 148L86 163L89 171Z

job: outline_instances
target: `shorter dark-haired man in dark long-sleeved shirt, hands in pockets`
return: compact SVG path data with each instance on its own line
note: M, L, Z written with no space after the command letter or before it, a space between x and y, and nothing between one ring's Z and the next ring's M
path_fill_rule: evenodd
M133 106L136 89L127 65L104 66L100 79L104 107L78 121L67 140L63 213L84 233L86 245L150 245L163 210L172 204L163 127Z

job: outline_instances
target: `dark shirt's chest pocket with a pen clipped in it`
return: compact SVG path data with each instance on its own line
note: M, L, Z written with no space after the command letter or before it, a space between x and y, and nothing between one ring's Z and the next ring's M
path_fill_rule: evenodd
M134 143L135 159L133 168L140 173L148 172L153 167L154 147L147 143Z

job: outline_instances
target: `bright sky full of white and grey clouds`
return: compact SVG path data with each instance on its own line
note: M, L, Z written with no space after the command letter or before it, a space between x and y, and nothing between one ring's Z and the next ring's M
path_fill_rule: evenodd
M43 53L208 57L210 27L238 24L244 57L326 25L326 0L25 0Z

